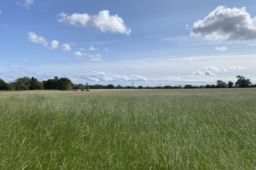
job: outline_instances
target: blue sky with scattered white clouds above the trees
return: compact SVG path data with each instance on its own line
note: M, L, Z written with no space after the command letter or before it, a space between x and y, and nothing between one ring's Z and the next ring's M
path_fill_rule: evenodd
M256 3L1 0L0 79L194 86L256 83Z

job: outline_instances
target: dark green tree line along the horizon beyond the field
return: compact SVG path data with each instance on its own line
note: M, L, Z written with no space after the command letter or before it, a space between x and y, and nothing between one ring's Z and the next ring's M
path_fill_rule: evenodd
M82 83L74 84L68 78L58 78L43 80L42 82L32 77L28 76L20 77L9 83L5 83L4 80L0 79L0 90L89 90L89 89L189 89L189 88L234 88L234 87L256 87L256 84L251 84L250 79L246 79L244 76L237 76L237 82L233 83L229 81L228 83L223 82L223 80L217 80L216 84L206 84L206 86L192 86L191 84L186 84L182 86L164 86L164 87L134 87L121 85L114 86L112 84L108 85L85 85Z

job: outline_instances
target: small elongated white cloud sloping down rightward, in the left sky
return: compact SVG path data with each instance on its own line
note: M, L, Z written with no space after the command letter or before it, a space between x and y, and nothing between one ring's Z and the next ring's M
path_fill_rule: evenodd
M36 33L34 32L29 32L27 35L28 35L28 39L31 42L42 44L48 49L57 49L57 47L59 46L59 42L57 40L54 40L52 42L47 42L47 40L44 39L42 36L36 36Z

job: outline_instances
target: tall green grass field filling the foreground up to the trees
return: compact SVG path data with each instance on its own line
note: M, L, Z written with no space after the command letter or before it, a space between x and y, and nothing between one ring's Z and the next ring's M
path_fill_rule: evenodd
M256 89L0 92L0 169L255 169Z

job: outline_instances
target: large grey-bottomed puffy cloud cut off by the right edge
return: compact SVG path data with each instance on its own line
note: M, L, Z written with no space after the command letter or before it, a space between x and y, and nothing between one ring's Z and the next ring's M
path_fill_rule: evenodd
M256 17L243 8L218 6L205 19L194 22L192 36L211 41L247 41L256 39Z

